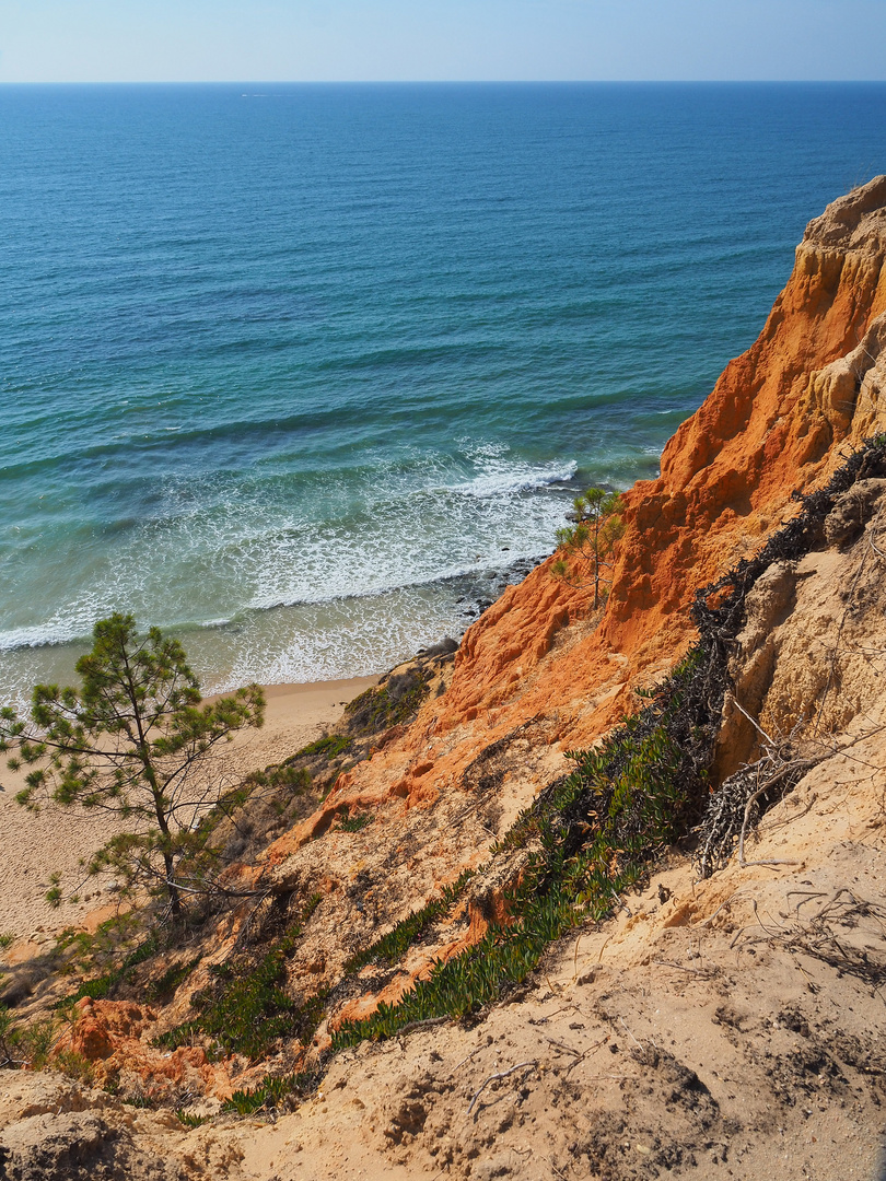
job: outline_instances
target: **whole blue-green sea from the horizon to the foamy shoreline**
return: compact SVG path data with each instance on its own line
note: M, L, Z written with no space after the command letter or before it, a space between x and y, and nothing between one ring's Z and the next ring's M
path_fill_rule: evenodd
M380 671L653 476L886 86L0 87L0 698Z

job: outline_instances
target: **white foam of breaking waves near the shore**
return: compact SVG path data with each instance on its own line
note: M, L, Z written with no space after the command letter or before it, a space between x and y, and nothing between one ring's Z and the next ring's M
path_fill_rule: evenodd
M458 478L468 471L470 479ZM575 471L574 461L532 465L506 444L464 439L452 455L379 459L347 479L289 472L282 479L168 481L148 520L118 522L115 536L103 536L99 546L69 539L65 570L73 594L57 600L40 624L0 631L0 651L84 639L115 609L139 619L162 615L165 626L187 631L232 626L245 612L340 600L350 603L352 631L363 618L354 600L434 587L500 567L506 555L513 562L547 552ZM320 517L318 503L326 507ZM48 589L57 595L54 585ZM39 594L33 587L18 612L33 612ZM403 599L415 603L410 642L426 641L442 626L429 598ZM374 603L369 613L379 611ZM451 629L451 611L442 618ZM390 632L393 621L378 626ZM365 637L370 650L376 631ZM320 648L327 658L317 668L328 676L328 637ZM347 659L343 651L335 676L347 673ZM311 660L301 658L298 667L307 674Z

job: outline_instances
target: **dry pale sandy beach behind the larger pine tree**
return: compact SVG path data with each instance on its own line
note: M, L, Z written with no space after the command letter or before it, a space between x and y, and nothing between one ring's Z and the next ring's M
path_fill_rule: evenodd
M256 768L278 763L294 753L324 731L334 729L344 706L378 677L317 681L306 685L269 685L265 687L267 711L261 730L243 731L234 737L223 755L226 777L247 775ZM54 934L78 926L90 915L104 911L113 900L106 882L87 880L78 902L63 902L52 908L45 901L50 875L60 875L65 896L83 881L80 861L89 857L113 833L119 822L108 814L77 809L45 808L30 813L15 803L20 776L2 766L0 771L0 934L27 940L20 953L32 945L50 942Z

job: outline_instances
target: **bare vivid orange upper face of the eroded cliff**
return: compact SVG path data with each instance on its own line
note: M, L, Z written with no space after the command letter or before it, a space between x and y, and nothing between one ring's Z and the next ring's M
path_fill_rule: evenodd
M467 632L444 696L344 777L335 803L392 794L428 805L530 719L568 749L633 712L633 687L658 680L691 641L695 592L795 511L795 489L823 482L846 446L886 425L885 259L878 177L809 223L758 340L667 443L659 478L626 494L602 618L549 562L509 587Z

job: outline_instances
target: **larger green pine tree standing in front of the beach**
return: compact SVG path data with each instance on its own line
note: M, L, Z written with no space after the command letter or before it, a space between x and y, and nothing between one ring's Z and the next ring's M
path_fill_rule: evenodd
M235 731L262 724L265 698L249 685L201 705L181 644L156 627L139 637L131 615L100 620L93 640L77 661L79 690L38 685L27 720L0 710L0 751L12 752L12 770L31 768L20 804L80 805L131 822L90 870L165 894L178 915L183 894L213 888L200 833L221 792L210 761Z

